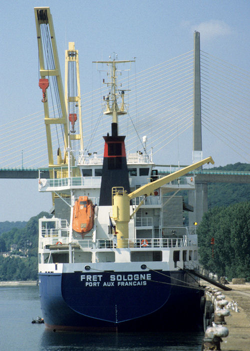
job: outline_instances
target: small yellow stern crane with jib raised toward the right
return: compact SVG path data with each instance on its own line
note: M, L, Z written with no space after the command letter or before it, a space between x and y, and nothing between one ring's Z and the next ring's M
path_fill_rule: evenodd
M201 161L190 164L176 172L166 175L152 183L146 184L135 191L127 194L122 187L112 188L112 217L115 221L115 233L117 236L117 247L127 247L128 241L128 223L130 221L129 204L130 200L139 196L149 196L155 189L162 187L164 184L169 183L189 171L199 168L205 163L214 163L212 157L207 157Z

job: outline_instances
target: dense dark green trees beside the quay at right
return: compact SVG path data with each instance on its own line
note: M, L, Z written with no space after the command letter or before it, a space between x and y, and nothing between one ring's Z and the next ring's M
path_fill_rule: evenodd
M197 234L204 268L228 279L250 280L250 202L211 209L204 214Z

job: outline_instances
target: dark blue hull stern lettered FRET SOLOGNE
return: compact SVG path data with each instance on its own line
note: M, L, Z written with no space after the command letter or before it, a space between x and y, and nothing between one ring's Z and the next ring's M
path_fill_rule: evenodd
M193 284L184 271L39 273L44 322L56 330L196 329L203 293Z

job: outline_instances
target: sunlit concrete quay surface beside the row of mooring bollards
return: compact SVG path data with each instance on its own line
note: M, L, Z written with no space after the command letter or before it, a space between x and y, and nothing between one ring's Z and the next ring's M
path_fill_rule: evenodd
M201 284L212 286L202 281ZM230 316L225 317L226 327L229 334L223 337L220 343L221 350L224 351L249 351L250 350L250 283L226 284L232 290L221 291L225 299L236 301L239 312L230 311Z

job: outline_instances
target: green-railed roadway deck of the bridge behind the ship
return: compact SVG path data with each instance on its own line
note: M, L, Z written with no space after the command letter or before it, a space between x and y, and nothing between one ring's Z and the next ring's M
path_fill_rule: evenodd
M42 178L49 178L48 168L40 168ZM160 175L169 174L168 171L158 171ZM38 168L0 168L2 179L38 179ZM190 177L193 172L190 172ZM250 172L209 170L195 171L195 184L207 183L250 183Z

